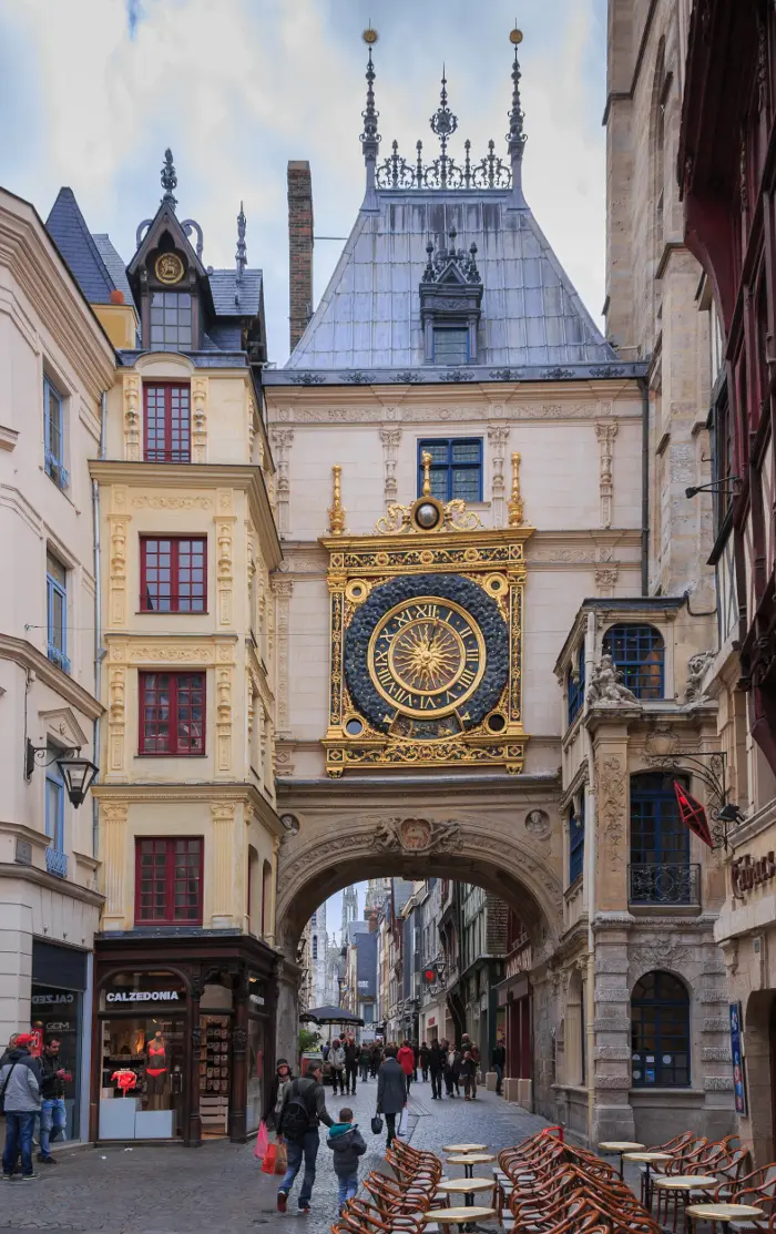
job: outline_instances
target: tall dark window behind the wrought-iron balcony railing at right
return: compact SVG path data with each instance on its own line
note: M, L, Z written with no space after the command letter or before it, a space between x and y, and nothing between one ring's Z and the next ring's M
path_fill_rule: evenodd
M660 771L630 776L630 903L697 902L697 866L690 865L674 781Z

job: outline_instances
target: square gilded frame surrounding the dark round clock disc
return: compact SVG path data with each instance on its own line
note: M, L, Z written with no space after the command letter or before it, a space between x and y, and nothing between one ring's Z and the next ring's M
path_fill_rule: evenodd
M390 536L338 534L321 539L329 554L329 718L322 739L328 776L387 766L505 768L513 775L523 770L529 739L523 728L526 542L533 531L526 526L495 531L411 528ZM344 679L344 640L353 616L374 587L408 574L461 575L498 605L510 638L510 671L496 708L506 721L500 732L491 731L486 719L449 738L396 737L373 728L350 698ZM352 721L363 726L357 735L347 732Z

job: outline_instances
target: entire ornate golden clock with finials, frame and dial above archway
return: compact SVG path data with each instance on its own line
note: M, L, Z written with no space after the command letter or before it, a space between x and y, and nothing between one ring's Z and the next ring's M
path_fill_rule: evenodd
M519 460L519 455L514 455ZM428 459L428 463L431 459ZM510 522L463 501L391 505L349 537L334 468L329 553L329 776L369 768L523 769L524 544L513 460ZM517 517L519 515L519 518Z

